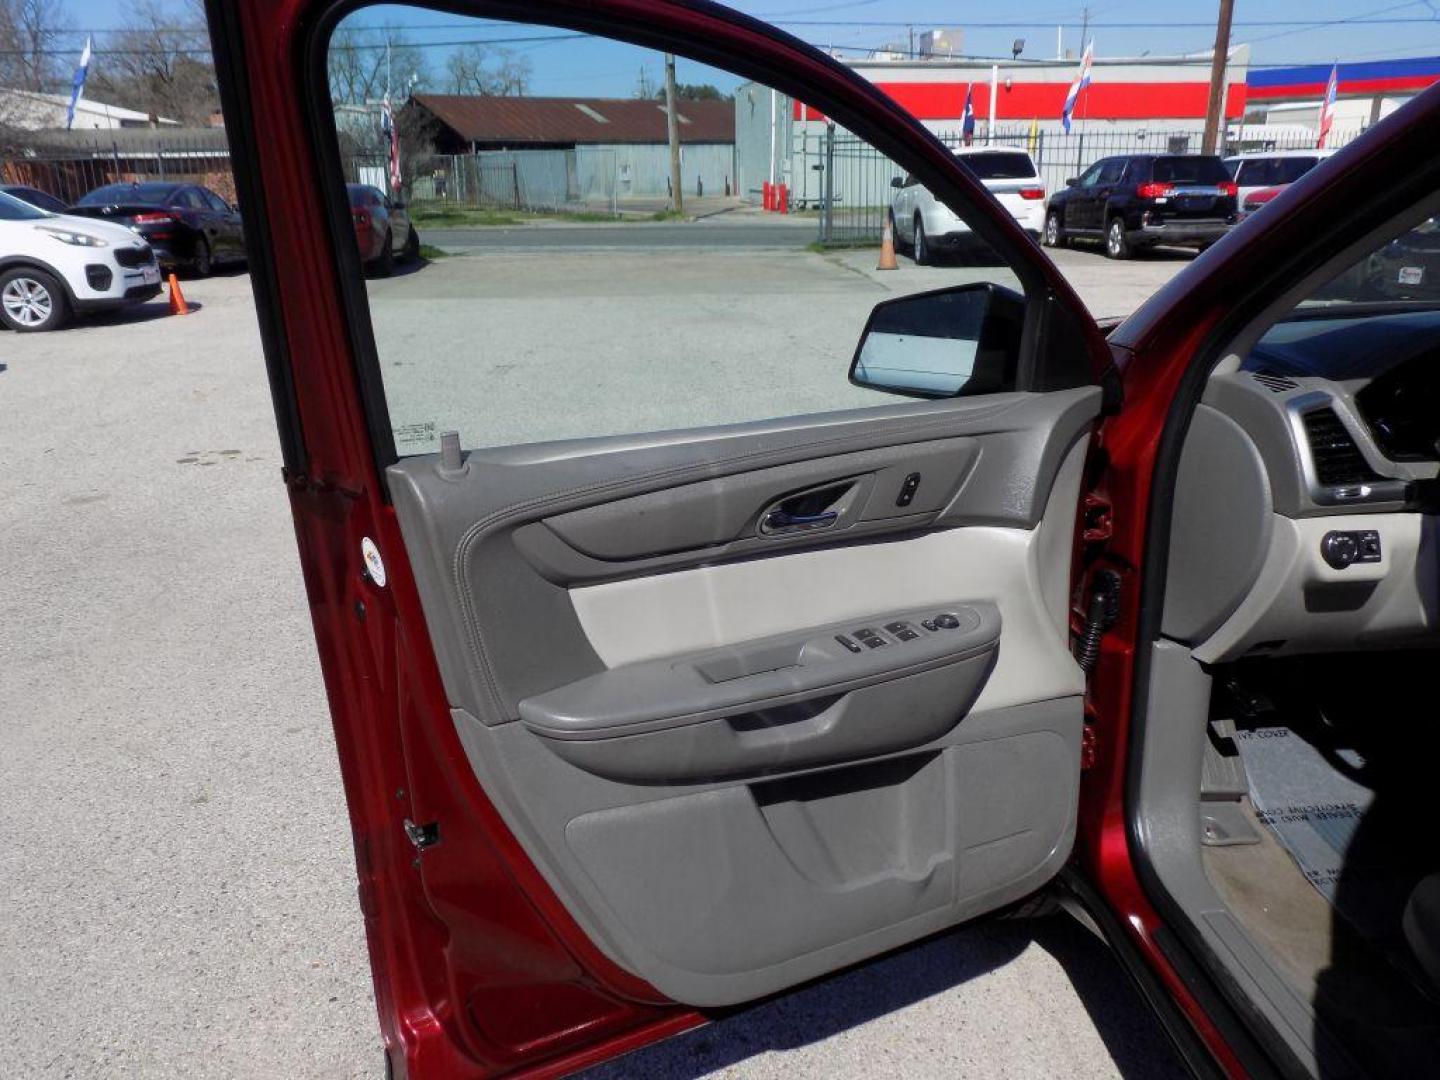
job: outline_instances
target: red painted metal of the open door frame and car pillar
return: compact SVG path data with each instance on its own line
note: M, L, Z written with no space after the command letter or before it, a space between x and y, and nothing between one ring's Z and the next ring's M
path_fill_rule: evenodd
M616 966L582 932L475 778L456 768L458 736L438 721L449 703L396 516L382 494L361 408L373 387L357 374L337 269L353 253L338 251L334 236L354 226L325 202L305 107L301 58L320 9L310 0L212 0L209 14L233 156L252 163L245 199L255 207L246 223L262 266L255 276L262 337L348 799L380 1027L395 1076L559 1076L706 1017ZM657 0L497 3L482 14L629 33L769 76L827 115L890 132L888 144L876 138L880 150L909 161L937 196L975 200L988 216L985 233L1027 245L1047 288L1079 305L1038 246L917 121L773 27L704 3ZM1087 697L1093 765L1081 775L1074 865L1152 1001L1182 1017L1189 1037L1230 1076L1247 1073L1248 1037L1234 1009L1182 962L1184 942L1152 899L1126 814L1129 765L1143 730L1138 644L1155 619L1145 582L1156 559L1164 566L1155 528L1165 527L1161 511L1188 415L1181 406L1198 399L1205 364L1197 357L1254 317L1260 301L1236 298L1280 288L1299 259L1315 258L1318 239L1333 242L1336 222L1368 204L1374 177L1414 171L1407 158L1436 145L1437 128L1440 89L1433 89L1292 184L1277 197L1283 213L1231 232L1107 338L1093 321L1081 330L1096 377L1123 406L1103 422L1092 452L1077 572L1116 570L1123 588ZM1361 223L1354 228L1358 233ZM361 537L387 553L389 588L353 572ZM423 877L400 818L446 822Z

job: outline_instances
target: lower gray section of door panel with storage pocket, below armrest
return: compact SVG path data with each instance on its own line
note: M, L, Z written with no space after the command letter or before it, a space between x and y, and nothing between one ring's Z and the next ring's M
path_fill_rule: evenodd
M697 1007L753 1001L1018 900L1074 842L1080 697L971 713L903 753L716 783L615 782L524 724L454 720L582 929Z

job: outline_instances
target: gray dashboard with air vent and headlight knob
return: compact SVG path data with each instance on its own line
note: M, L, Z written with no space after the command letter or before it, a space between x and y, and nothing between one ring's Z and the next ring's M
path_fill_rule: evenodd
M1202 662L1440 644L1440 311L1299 312L1187 436L1164 632Z

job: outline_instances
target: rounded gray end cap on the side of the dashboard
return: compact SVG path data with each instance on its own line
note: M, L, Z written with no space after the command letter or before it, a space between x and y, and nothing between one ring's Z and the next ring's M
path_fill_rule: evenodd
M1185 435L1172 513L1164 634L1195 644L1240 606L1270 546L1264 461L1244 429L1208 405Z

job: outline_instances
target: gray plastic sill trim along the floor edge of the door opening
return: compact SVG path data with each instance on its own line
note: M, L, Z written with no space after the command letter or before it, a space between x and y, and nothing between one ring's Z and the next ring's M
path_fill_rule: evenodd
M1149 670L1151 723L1135 806L1139 838L1165 891L1191 919L1240 994L1261 1008L1286 1047L1315 1073L1319 1018L1234 922L1201 861L1201 779L1211 677L1187 645L1164 639L1151 647Z

